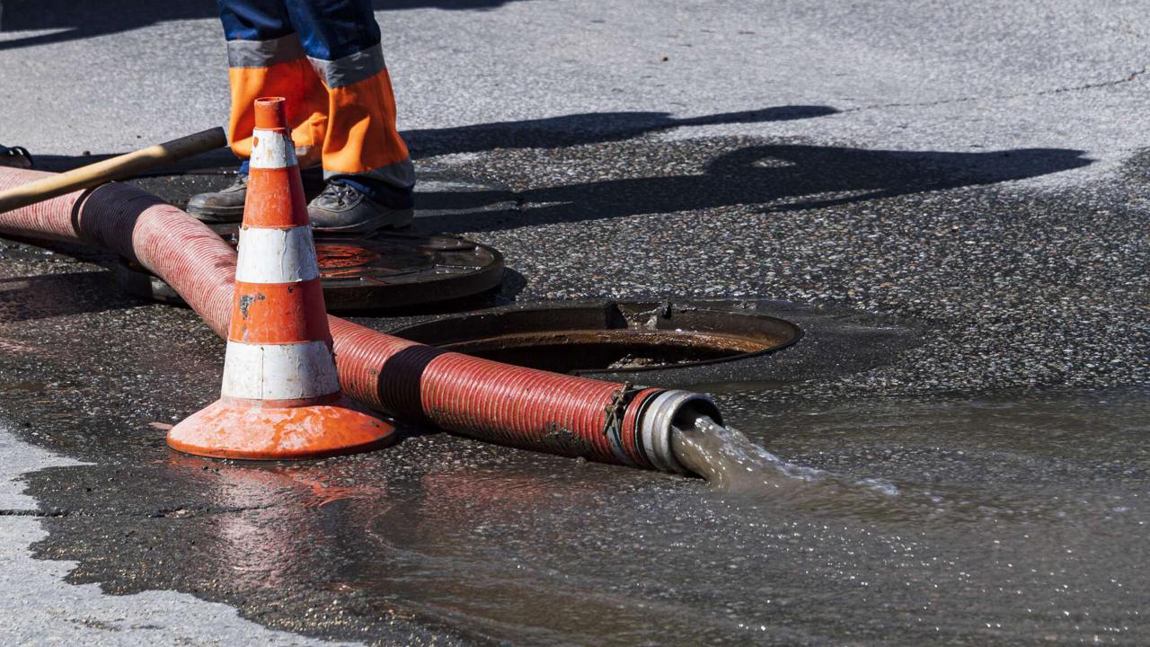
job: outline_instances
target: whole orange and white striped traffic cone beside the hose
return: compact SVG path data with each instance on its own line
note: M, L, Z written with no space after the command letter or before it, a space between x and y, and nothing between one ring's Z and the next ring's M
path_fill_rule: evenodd
M317 458L381 447L394 427L343 396L284 99L255 101L251 175L218 401L168 432L216 458Z

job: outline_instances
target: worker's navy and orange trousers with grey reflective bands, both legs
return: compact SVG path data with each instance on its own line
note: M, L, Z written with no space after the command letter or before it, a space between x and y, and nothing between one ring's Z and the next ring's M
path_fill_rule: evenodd
M300 166L409 201L415 176L370 0L217 0L228 39L231 150L252 152L253 105L288 99ZM404 206L396 204L392 206Z

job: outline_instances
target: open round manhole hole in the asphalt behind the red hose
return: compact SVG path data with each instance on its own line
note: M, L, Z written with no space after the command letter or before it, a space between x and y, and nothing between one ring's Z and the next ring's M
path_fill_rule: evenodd
M734 307L668 302L513 306L405 326L444 350L561 373L637 373L742 359L802 336L793 324Z

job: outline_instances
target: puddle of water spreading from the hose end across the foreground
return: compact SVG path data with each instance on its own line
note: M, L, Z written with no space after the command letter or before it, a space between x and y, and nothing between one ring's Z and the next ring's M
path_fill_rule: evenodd
M682 439L722 490L438 435L275 467L128 439L152 460L30 492L78 510L39 545L76 581L339 637L398 618L532 645L1135 645L1147 395L733 397L745 442Z

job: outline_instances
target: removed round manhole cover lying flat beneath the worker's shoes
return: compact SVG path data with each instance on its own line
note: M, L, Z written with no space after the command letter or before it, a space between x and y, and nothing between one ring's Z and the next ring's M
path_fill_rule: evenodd
M233 227L233 226L232 226ZM235 244L235 237L222 231ZM328 310L370 312L474 297L503 282L503 254L450 235L381 231L366 237L315 237ZM183 303L143 267L121 261L121 286L131 294Z

